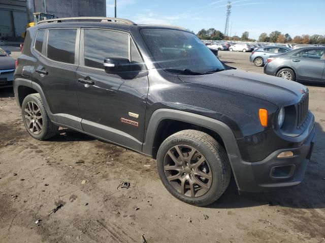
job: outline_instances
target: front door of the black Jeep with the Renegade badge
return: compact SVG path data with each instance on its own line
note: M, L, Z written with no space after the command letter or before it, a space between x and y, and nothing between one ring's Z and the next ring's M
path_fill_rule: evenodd
M83 130L141 150L148 77L132 38L120 31L82 29L79 56L77 93ZM107 57L127 58L139 68L127 76L106 73Z

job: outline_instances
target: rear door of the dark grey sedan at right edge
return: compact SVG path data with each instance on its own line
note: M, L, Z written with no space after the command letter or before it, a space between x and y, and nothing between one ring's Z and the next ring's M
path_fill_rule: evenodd
M297 79L321 81L325 60L322 59L324 49L307 49L297 53L290 58L291 65L296 70Z

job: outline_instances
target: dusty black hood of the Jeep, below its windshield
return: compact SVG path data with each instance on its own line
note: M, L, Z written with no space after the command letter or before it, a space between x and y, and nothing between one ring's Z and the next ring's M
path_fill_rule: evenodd
M279 77L243 70L225 70L207 75L179 76L182 82L232 91L271 102L278 107L297 103L303 85Z

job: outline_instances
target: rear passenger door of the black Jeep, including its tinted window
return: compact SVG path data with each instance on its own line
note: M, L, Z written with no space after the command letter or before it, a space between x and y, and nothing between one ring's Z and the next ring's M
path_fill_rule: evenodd
M45 31L45 32L44 32ZM44 32L40 47L39 33ZM76 90L80 29L38 30L35 50L40 54L32 75L41 86L53 121L81 130Z

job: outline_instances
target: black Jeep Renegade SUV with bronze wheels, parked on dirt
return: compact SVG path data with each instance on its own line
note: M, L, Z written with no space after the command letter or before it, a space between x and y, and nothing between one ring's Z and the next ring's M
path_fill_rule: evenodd
M27 132L71 128L157 160L186 203L299 184L311 156L308 89L224 66L178 27L63 18L28 28L14 75Z

